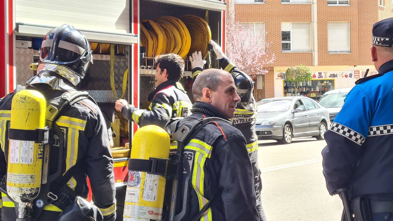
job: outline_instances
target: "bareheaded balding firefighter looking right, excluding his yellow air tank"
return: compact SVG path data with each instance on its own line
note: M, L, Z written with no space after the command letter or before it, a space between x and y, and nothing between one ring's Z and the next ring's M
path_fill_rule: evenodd
M220 69L202 71L193 84L195 103L192 114L181 119L176 128L193 119L233 118L237 102L236 86L230 73ZM191 168L189 219L210 201L200 220L259 220L253 170L246 140L230 122L206 124L185 146ZM213 198L214 197L214 198Z

